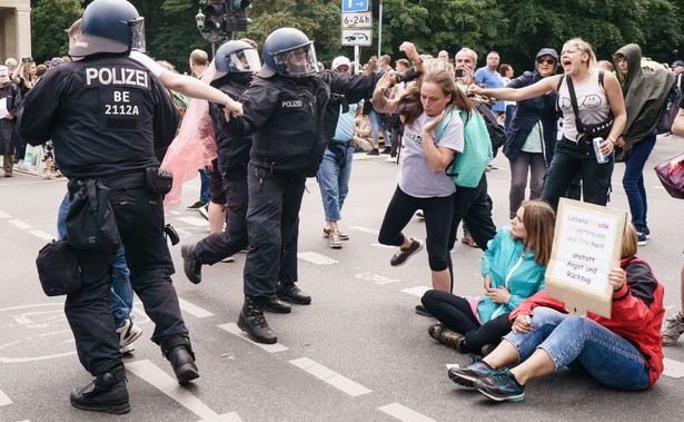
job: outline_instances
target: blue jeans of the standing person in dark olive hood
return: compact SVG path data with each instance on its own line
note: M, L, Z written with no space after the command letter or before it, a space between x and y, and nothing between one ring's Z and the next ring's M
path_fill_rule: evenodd
M640 233L648 233L646 225L646 188L644 187L644 166L655 147L655 135L644 138L634 144L632 154L625 160L625 175L622 178L622 186L625 188L630 212L632 213L632 224Z

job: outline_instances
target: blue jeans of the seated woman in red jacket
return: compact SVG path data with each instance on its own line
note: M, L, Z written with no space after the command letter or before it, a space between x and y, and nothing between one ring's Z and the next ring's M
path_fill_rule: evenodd
M518 352L521 361L537 347L545 350L556 365L581 365L596 381L618 390L648 387L644 357L627 340L595 321L536 307L528 333L508 333L504 338Z

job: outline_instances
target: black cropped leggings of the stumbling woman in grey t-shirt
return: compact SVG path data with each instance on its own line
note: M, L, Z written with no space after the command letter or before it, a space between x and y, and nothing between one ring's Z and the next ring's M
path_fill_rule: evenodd
M423 209L425 216L425 232L427 233L425 243L430 269L447 269L449 267L447 242L454 215L454 194L444 197L416 198L397 186L385 212L378 242L383 245L400 246L404 243L402 230L418 209Z

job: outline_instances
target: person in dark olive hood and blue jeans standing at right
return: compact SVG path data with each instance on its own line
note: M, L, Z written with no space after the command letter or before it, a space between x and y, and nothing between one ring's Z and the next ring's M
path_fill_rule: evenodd
M644 167L655 147L658 117L675 76L661 66L642 67L642 49L636 43L622 47L613 58L627 111L627 122L616 139L616 146L622 148L616 158L625 161L622 185L627 195L632 224L638 233L638 245L645 246L651 229L646 222L648 203Z

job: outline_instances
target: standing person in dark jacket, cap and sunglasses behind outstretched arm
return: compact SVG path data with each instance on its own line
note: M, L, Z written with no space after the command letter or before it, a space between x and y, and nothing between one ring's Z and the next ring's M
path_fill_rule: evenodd
M512 80L507 88L522 88L556 73L558 53L553 48L537 52L535 70L526 71ZM544 175L554 157L558 131L556 111L557 95L545 92L518 101L513 119L506 130L504 155L510 165L510 192L508 193L509 217L525 200L527 174L529 173L529 199L542 196ZM507 120L508 121L508 120Z

